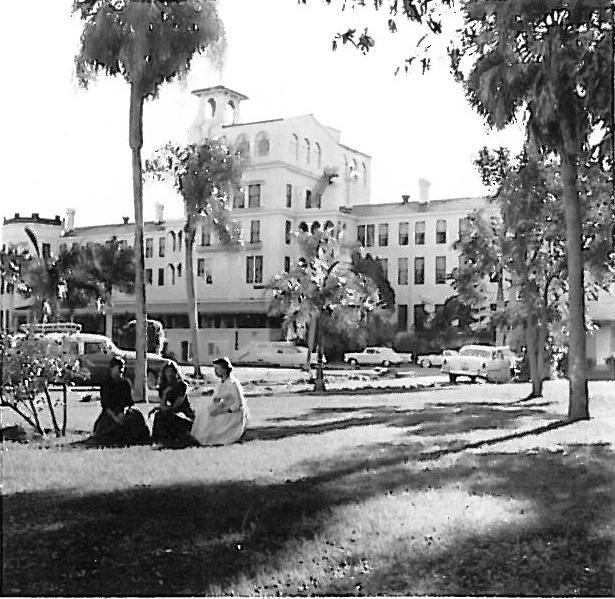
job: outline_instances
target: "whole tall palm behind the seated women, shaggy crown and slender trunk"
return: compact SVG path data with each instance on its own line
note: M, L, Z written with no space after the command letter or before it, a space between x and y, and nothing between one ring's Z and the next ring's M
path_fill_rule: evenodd
M212 0L75 0L84 21L77 76L87 86L99 71L130 86L129 135L135 210L135 399L146 397L145 257L143 253L143 102L160 86L188 72L195 54L221 40Z

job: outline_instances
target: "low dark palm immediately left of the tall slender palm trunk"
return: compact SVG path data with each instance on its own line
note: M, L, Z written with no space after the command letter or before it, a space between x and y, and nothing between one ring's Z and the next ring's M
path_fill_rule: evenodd
M105 335L113 336L113 292L134 293L135 252L118 242L117 237L86 249L87 281L105 310Z

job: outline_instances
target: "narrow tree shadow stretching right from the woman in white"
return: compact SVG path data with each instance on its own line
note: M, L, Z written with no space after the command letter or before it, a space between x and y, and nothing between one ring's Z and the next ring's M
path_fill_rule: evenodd
M377 405L360 407L313 408L286 424L281 419L271 426L250 428L244 441L275 440L297 435L317 435L359 426L385 425L409 429L420 436L464 434L479 429L516 429L520 418L558 420L559 415L542 407L511 406L494 403L457 402L426 404L419 409L399 409ZM321 422L314 422L321 420ZM322 422L323 420L326 420ZM307 421L307 422L306 422Z

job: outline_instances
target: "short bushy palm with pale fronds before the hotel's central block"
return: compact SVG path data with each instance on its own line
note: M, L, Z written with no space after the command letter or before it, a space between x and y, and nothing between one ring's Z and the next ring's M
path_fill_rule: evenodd
M357 274L341 260L339 237L332 229L300 237L302 258L290 272L276 275L271 312L284 315L291 330L309 331L308 350L317 348L315 391L324 391L324 323L332 319L339 328L357 327L380 301L368 277Z

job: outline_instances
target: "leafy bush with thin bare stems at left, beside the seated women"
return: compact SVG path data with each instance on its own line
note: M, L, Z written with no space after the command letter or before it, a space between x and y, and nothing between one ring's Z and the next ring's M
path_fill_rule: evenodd
M39 413L47 409L55 435L65 435L68 386L77 378L87 378L89 372L81 368L75 355L67 352L64 337L3 335L0 352L0 405L19 414L41 435L45 435L45 429ZM61 400L53 401L50 385L61 387ZM62 410L61 425L56 414L58 405Z

